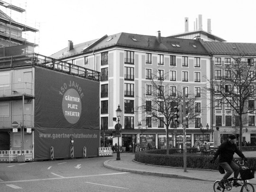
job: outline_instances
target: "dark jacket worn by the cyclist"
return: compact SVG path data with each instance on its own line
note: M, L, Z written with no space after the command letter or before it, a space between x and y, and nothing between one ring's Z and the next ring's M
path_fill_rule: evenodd
M219 156L219 163L227 162L231 163L234 153L239 157L245 158L244 154L237 148L236 144L232 144L229 140L221 143L213 159L216 160Z

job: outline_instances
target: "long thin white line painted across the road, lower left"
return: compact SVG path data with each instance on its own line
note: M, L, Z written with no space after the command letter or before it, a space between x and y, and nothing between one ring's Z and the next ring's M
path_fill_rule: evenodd
M82 177L95 177L95 176L105 176L105 175L120 175L120 174L129 174L128 172L121 173L113 173L113 174L99 174L99 175L80 175L73 177L54 177L54 178L46 178L46 179L30 179L30 180L19 180L19 181L3 181L1 183L18 183L18 182L31 182L31 181L49 181L56 179L73 179L73 178L82 178Z

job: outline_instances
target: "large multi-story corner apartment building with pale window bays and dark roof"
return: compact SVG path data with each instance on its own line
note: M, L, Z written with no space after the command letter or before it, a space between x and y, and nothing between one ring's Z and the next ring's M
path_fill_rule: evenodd
M151 98L151 77L155 74L166 76L165 89L175 95L186 88L186 94L197 97L198 117L187 127L187 144L193 146L196 140L203 138L210 141L210 133L202 134L200 125L206 129L210 124L210 105L204 89L206 77L210 77L210 55L198 40L119 33L83 44L68 47L53 54L51 57L71 62L79 66L101 72L101 130L108 137L107 143L117 143L114 133L113 117L116 117L118 105L123 113L120 123L121 143L128 148L134 141L143 145L150 142L153 146L165 146L165 127L163 123L154 123L145 113L135 113L137 106L143 105ZM142 134L138 130L138 122L145 122L148 128ZM170 128L171 146L182 146L183 130ZM102 134L103 135L103 134ZM111 139L110 139L111 138ZM132 139L134 138L134 140Z

